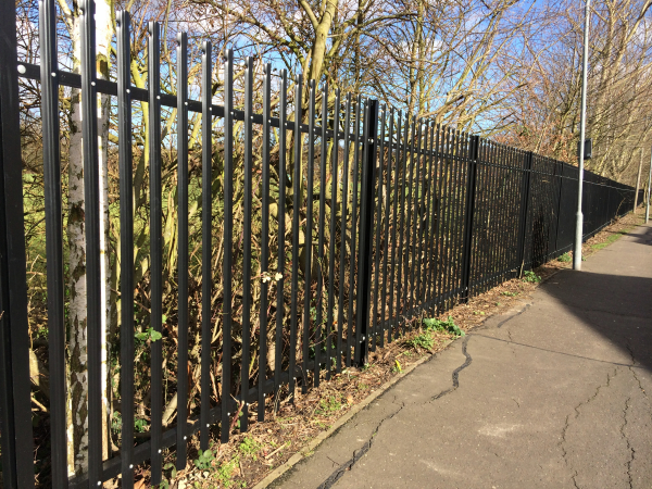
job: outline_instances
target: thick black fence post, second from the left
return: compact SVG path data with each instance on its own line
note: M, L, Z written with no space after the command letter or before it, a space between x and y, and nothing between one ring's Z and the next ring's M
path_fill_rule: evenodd
M369 310L372 293L372 243L374 233L374 183L378 136L378 101L367 100L366 131L362 159L362 189L360 209L360 250L358 251L358 311L355 315L354 362L364 365L369 346Z

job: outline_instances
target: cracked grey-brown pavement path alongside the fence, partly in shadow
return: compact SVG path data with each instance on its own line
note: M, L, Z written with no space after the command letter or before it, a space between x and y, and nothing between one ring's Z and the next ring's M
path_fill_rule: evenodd
M278 488L652 488L652 227L418 366Z

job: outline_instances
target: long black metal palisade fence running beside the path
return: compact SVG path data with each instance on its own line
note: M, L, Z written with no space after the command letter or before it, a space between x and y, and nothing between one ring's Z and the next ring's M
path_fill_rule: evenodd
M249 411L305 391L322 377L366 362L435 315L570 250L576 209L574 166L342 96L326 85L273 75L226 51L214 102L210 42L201 54L201 100L189 98L188 40L179 35L176 96L161 91L159 25L148 40L149 86L131 85L130 20L117 14L115 80L96 75L93 2L83 14L82 72L59 70L52 0L40 3L40 66L18 63L13 3L2 3L2 153L0 198L0 364L2 475L5 487L34 486L29 329L25 287L17 79L40 83L47 233L50 373L50 479L57 488L97 487L149 463L160 484L164 450L187 464L200 448L227 442ZM234 70L243 77L234 82ZM112 98L118 170L120 454L102 455L100 210L98 147L84 145L88 288L88 466L68 476L65 281L60 87L82 89L84 140L97 141L98 93ZM237 88L237 90L235 89ZM243 96L240 93L243 92ZM329 101L330 100L330 101ZM147 102L149 247L135 247L133 105ZM162 110L176 118L162 126ZM195 114L201 114L189 118ZM142 123L142 121L139 121ZM190 131L201 138L189 147ZM173 146L174 164L162 149ZM190 160L193 160L190 164ZM166 166L167 165L167 166ZM200 168L199 174L193 167ZM175 186L163 181L172 172ZM193 173L195 172L195 173ZM196 178L197 176L197 178ZM586 173L585 237L631 209L634 189ZM174 193L174 198L171 197ZM174 208L174 240L164 239ZM198 209L200 211L198 211ZM196 212L197 211L197 212ZM167 214L165 214L167 215ZM216 229L220 233L216 233ZM145 251L143 251L145 249ZM176 253L172 271L166 256ZM148 260L147 288L135 261ZM171 273L168 273L171 272ZM198 278L199 277L199 278ZM136 324L147 304L151 341ZM171 313L172 311L172 313ZM174 317L170 325L166 314ZM140 313L142 315L142 312ZM139 316L140 317L140 316ZM164 327L165 326L165 327ZM136 335L136 337L135 337ZM156 338L160 338L156 340ZM141 356L145 352L145 356ZM148 359L149 365L141 359ZM165 362L164 362L165 359ZM137 368L149 368L143 387ZM165 385L163 381L165 380ZM147 396L139 391L147 390ZM149 434L138 437L136 397L147 403ZM164 406L176 396L176 416ZM269 400L268 400L269 399Z

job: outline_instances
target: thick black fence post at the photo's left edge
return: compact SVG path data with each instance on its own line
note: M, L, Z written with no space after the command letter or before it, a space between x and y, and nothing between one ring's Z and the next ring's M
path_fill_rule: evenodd
M0 430L7 488L34 487L23 162L13 2L0 7Z

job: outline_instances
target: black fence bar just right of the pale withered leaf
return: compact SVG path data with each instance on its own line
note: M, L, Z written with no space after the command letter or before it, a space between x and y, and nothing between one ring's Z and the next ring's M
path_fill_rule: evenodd
M278 268L277 274L280 278L276 280L276 343L274 349L274 396L275 401L279 396L281 354L283 354L283 325L285 318L285 201L286 201L286 126L287 126L287 91L288 91L288 72L283 70L280 73L280 101L278 108L278 117L280 127L278 129Z

